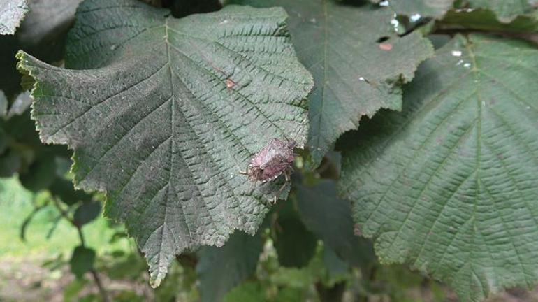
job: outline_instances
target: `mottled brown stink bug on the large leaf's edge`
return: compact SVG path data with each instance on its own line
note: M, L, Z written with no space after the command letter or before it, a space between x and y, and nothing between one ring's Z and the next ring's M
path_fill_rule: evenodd
M259 152L254 154L250 160L247 171L240 171L240 174L248 175L252 182L270 182L280 175L284 174L286 182L290 180L290 174L293 171L292 164L295 154L293 148L297 145L296 141L280 141L278 138L271 138L269 143ZM277 195L286 187L286 183L279 189ZM277 195L273 202L277 201Z

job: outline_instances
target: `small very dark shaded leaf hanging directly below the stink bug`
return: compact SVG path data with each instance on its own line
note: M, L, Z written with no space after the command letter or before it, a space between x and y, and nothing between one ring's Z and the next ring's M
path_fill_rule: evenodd
M317 238L300 221L291 201L278 211L275 225L275 248L279 264L284 267L303 267L316 251Z

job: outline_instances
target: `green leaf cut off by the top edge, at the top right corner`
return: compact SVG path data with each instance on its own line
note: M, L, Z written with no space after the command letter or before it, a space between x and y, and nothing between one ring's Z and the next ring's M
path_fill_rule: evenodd
M472 8L493 10L501 22L511 22L518 15L532 13L535 0L466 0Z

